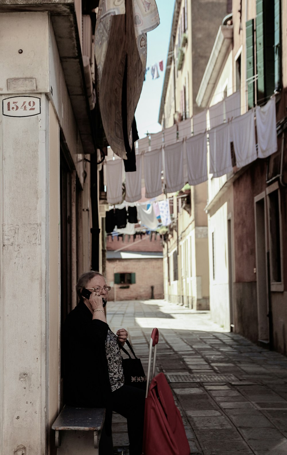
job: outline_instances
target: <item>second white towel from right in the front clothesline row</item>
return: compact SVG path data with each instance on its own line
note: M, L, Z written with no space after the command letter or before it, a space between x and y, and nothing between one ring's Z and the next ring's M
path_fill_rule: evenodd
M236 165L246 166L257 159L253 109L232 120L231 128Z

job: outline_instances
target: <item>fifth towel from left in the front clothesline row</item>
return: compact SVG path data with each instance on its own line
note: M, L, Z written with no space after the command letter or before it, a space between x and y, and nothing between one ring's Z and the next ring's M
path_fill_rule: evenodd
M206 133L186 139L186 158L188 183L198 185L206 182L208 180Z

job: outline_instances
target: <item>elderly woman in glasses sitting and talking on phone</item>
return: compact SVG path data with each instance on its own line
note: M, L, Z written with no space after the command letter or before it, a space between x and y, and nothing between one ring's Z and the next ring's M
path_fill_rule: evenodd
M127 419L130 455L141 455L145 392L124 384L120 349L128 333L119 329L113 334L106 322L103 298L107 300L110 289L99 272L83 273L78 280L80 301L68 314L62 337L64 401L70 406L106 408L101 455L112 454L105 443L111 435L112 411Z

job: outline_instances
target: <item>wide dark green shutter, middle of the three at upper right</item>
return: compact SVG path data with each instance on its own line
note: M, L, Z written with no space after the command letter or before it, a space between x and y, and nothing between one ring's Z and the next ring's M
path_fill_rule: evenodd
M262 104L275 88L274 0L256 0L257 103Z

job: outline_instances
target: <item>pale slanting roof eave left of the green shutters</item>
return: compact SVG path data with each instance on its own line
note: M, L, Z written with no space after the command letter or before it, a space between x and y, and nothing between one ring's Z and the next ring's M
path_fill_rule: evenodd
M196 96L196 104L198 106L208 107L232 41L233 26L221 25Z

